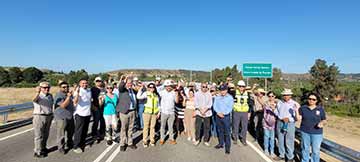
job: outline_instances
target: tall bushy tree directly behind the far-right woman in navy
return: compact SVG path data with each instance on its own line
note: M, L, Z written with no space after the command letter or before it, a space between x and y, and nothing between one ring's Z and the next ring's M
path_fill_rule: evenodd
M328 66L325 60L317 59L310 69L312 76L311 83L314 85L314 92L318 93L321 101L333 98L337 93L338 67L335 63Z

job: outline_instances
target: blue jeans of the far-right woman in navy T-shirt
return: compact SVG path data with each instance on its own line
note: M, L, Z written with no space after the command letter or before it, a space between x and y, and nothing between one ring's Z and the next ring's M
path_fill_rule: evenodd
M320 161L320 146L323 139L323 134L309 134L301 132L301 162L308 162L310 159L311 147L311 161Z

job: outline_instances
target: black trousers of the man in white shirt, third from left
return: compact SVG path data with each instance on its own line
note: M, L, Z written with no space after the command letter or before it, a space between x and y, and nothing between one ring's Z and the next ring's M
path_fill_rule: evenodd
M74 149L84 148L91 116L75 115Z

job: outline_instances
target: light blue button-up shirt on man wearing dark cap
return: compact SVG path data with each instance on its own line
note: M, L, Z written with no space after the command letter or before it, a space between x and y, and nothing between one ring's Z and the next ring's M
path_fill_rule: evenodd
M216 96L214 100L214 110L216 113L228 115L234 106L234 98L230 94L226 96Z

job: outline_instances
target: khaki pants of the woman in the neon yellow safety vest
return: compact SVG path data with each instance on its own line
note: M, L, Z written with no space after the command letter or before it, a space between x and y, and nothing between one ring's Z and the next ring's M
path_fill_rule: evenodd
M150 142L155 143L155 125L156 125L155 114L143 113L144 129L143 129L143 142L147 143L150 128Z

